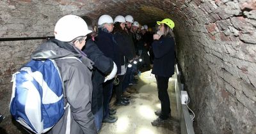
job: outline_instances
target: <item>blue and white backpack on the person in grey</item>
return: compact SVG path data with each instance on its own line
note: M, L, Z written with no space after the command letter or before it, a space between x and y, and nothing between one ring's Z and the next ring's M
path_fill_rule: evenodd
M65 112L65 90L53 59L32 59L13 74L10 112L22 126L45 133Z

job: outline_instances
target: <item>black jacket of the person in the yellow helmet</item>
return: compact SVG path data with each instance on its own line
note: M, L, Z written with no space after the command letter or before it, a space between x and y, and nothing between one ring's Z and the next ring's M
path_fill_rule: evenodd
M154 66L152 73L161 77L172 77L175 64L175 42L170 36L161 36L154 40L152 48L154 52Z

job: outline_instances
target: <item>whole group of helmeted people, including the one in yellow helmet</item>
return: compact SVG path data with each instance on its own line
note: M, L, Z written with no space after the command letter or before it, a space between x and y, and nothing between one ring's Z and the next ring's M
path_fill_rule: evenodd
M156 76L161 101L161 110L155 112L159 117L152 125L157 126L170 118L167 89L168 79L174 73L174 23L164 19L157 24L157 32L153 35L131 15L118 15L115 19L101 15L97 26L88 17L61 17L54 28L55 38L40 45L32 54L32 57L46 54L52 59L61 58L56 64L69 105L48 133L98 133L102 123L115 123L116 110L109 107L113 91L116 106L129 105L131 93L136 93L132 87L136 83L134 75L140 67L127 65L143 57L143 66L147 66L150 50L150 55L154 54L152 73Z

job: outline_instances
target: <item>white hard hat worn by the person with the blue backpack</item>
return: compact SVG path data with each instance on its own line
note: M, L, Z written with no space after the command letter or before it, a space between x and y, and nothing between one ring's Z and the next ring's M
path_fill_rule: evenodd
M72 41L79 36L92 33L86 22L76 15L65 15L61 17L54 27L54 36L60 41Z

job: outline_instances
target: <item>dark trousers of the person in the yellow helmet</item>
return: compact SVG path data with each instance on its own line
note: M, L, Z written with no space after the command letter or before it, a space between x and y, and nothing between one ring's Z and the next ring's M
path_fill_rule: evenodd
M169 77L160 77L156 75L158 98L161 101L161 115L160 119L168 119L171 112L170 100L168 95L168 80Z

